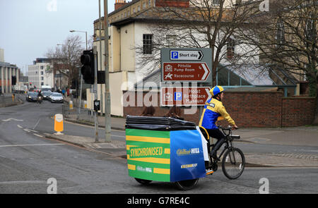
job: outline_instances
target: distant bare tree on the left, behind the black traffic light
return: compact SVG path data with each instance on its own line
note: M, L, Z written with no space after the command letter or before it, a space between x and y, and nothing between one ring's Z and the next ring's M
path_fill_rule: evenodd
M64 40L64 44L48 49L45 54L47 58L52 59L53 66L57 64L66 66L57 68L57 71L68 78L68 87L71 87L71 82L78 78L78 67L81 66L80 58L84 50L82 45L80 36L69 36Z

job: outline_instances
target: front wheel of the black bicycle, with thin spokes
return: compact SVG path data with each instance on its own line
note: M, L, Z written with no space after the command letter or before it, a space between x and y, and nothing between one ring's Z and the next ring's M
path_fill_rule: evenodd
M240 177L245 169L245 157L240 149L232 148L225 152L222 159L222 171L229 179Z

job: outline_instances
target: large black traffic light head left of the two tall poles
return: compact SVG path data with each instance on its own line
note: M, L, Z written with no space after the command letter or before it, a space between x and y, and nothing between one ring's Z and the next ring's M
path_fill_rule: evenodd
M93 50L83 51L81 56L81 63L83 64L81 68L81 73L83 75L83 80L90 85L93 85L95 80L94 71L94 54Z

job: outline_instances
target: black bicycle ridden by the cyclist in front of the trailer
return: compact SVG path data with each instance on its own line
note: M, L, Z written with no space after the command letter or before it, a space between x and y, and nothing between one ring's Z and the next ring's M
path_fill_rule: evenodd
M245 169L245 156L242 150L233 147L232 142L233 140L239 140L240 136L232 135L232 126L228 126L228 128L219 126L218 128L220 128L220 130L222 130L225 135L225 147L223 148L223 151L218 155L218 158L221 158L223 156L222 171L224 175L229 179L239 178ZM207 146L210 161L208 161L208 164L206 164L206 174L209 175L218 170L218 160L213 159L213 157L211 156L211 149L214 147L211 137L209 137L206 129L200 127L200 130L208 141Z

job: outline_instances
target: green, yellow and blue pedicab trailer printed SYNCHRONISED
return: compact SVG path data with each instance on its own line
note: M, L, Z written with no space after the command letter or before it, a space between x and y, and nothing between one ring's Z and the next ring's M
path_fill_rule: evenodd
M189 190L206 176L203 140L195 123L126 116L125 128L128 173L139 183L172 182Z

